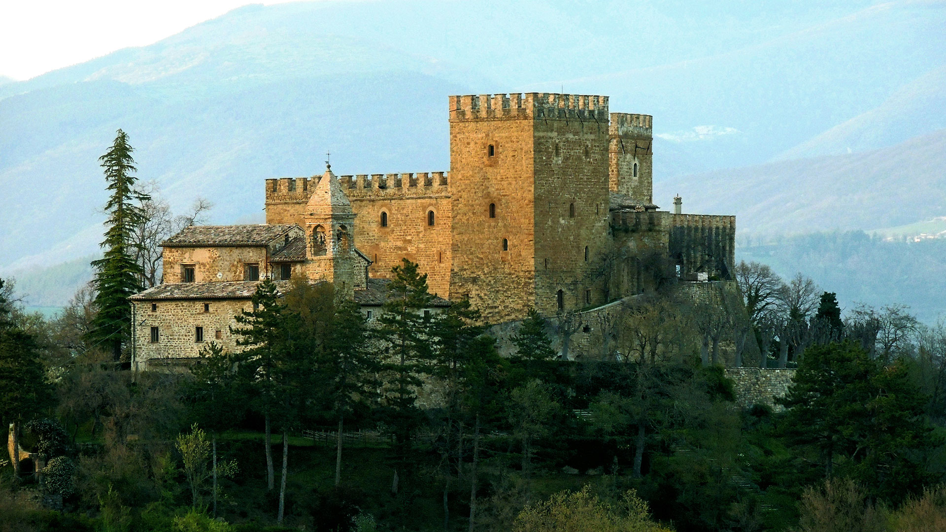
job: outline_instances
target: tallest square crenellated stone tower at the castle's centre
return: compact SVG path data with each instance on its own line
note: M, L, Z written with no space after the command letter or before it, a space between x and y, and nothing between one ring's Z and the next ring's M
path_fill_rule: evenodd
M491 322L607 300L607 97L455 96L449 109L451 299L468 294Z

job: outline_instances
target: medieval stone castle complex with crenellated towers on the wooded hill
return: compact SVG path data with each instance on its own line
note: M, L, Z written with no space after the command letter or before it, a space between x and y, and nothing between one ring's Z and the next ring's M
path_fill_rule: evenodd
M268 179L266 224L166 240L164 283L131 297L136 361L234 347L229 326L262 278L333 281L372 319L402 258L428 274L434 306L469 297L492 324L598 308L667 276L731 279L735 217L653 203L650 115L546 93L448 104L448 172Z

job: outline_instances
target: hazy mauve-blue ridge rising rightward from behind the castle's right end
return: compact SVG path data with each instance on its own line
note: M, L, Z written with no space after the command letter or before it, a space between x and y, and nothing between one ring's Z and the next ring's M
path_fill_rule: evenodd
M893 147L659 181L657 204L734 214L749 233L881 229L946 215L946 130Z

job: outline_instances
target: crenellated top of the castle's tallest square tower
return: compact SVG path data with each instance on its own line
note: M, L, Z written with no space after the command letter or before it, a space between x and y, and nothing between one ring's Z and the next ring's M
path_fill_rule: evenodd
M525 93L449 97L450 121L575 119L607 122L607 97Z

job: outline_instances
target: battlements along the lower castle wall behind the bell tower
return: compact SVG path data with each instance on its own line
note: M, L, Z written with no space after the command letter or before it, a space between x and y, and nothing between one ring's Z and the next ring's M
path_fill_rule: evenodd
M266 202L307 202L321 180L320 176L267 179ZM362 173L339 176L339 183L351 199L372 196L427 196L447 194L448 173Z

